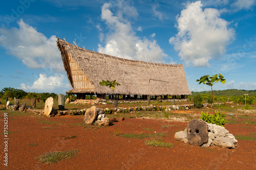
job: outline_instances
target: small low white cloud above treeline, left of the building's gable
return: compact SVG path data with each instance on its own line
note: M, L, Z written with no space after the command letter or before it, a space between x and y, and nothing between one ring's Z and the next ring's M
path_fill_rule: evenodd
M65 92L70 89L69 83L64 75L55 74L49 78L40 74L39 78L31 85L25 83L20 84L19 89L27 92Z

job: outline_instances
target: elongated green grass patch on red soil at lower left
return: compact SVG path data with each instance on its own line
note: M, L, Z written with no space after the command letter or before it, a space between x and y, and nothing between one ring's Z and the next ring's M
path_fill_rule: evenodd
M78 150L49 152L39 156L37 160L39 160L41 163L56 163L63 159L73 158L77 152Z

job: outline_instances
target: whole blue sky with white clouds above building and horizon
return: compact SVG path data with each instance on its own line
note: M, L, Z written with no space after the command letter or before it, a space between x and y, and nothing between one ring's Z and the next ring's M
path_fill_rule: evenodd
M2 1L0 90L72 89L56 37L104 54L183 64L190 91L222 74L214 90L256 89L255 0Z

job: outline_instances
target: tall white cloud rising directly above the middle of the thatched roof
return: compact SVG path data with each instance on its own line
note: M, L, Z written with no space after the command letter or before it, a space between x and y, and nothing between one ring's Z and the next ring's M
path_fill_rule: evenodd
M126 5L127 6L127 5ZM122 6L124 8L124 6ZM140 38L136 36L131 23L123 18L118 8L117 15L112 13L111 4L105 3L101 9L101 19L108 25L109 33L105 34L105 45L98 45L98 51L113 56L119 55L133 60L162 61L167 57L155 39ZM131 7L129 7L131 8ZM137 11L132 11L137 13ZM132 14L130 14L132 15ZM136 15L133 15L136 16Z

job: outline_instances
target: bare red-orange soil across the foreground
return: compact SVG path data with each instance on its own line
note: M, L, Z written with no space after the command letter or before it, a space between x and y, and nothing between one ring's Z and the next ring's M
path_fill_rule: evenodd
M0 117L1 128L4 129L4 115L0 114ZM175 132L184 130L187 123L125 118L113 126L99 128L82 126L81 116L8 118L8 131L15 133L8 134L8 167L3 163L4 135L1 135L0 169L256 169L255 141L238 140L235 149L202 148L176 141ZM254 125L226 124L225 127L233 135L255 134ZM174 143L174 148L145 145L145 140L152 138L113 135L119 133L163 133L166 135L162 141ZM65 139L74 135L76 138ZM46 152L71 149L79 150L72 159L51 164L36 160Z

